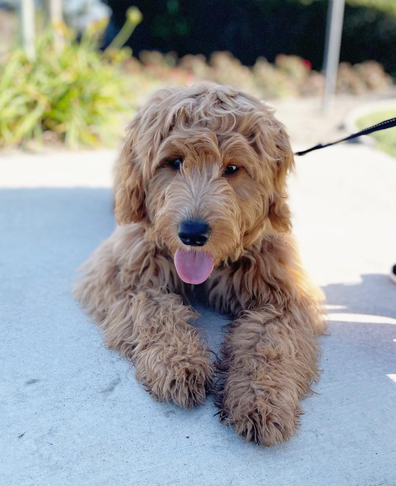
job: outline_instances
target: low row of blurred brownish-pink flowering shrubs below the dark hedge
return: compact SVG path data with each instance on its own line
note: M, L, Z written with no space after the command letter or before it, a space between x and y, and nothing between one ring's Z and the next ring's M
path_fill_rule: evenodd
M150 86L192 84L212 81L247 91L262 99L319 96L325 78L312 70L311 63L298 56L280 54L275 63L258 58L253 67L244 66L229 52L214 52L208 62L204 56L191 54L178 60L174 53L162 55L158 51L142 51L140 64L131 58L126 62L129 72L140 77L143 90ZM392 77L376 61L351 66L341 63L338 73L339 93L364 94L386 91L393 84Z

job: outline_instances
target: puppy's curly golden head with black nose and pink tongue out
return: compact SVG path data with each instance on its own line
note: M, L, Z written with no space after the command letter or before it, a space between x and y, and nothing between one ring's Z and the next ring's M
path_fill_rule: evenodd
M132 121L120 158L116 218L146 220L200 283L265 233L287 231L293 153L273 111L232 88L162 89Z

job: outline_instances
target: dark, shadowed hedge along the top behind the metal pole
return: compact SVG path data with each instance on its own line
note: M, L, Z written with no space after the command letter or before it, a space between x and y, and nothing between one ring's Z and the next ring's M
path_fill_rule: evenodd
M113 9L108 30L117 32L127 8L141 9L130 45L176 51L180 57L230 51L252 66L263 56L275 62L279 53L323 65L329 0L107 0ZM374 59L396 77L396 0L346 0L341 61L352 64Z

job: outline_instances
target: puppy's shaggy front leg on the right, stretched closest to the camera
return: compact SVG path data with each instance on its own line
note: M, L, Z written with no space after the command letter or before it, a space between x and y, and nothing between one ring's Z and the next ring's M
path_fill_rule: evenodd
M304 320L304 310L288 303L245 311L230 326L217 402L222 422L246 440L273 445L295 431L299 399L318 377L318 344Z

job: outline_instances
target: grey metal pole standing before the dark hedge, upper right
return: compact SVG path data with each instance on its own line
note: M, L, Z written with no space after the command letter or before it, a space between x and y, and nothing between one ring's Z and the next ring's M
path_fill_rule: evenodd
M322 108L328 110L335 94L345 0L329 0L324 69L326 75Z

